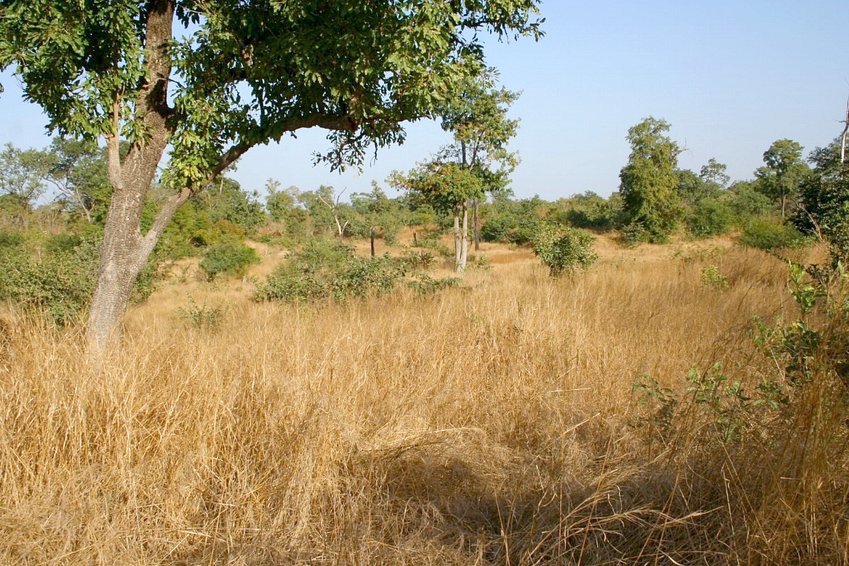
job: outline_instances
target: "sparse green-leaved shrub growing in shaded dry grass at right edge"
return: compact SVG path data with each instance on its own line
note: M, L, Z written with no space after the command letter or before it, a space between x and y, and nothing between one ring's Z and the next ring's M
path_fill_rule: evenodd
M712 425L705 431L723 443L738 442L750 429L768 422L778 425L776 440L783 443L788 424L807 402L811 388L824 393L830 407L845 412L849 404L849 274L842 265L827 269L825 277L812 277L810 271L810 267L790 264L788 286L799 307L798 319L767 324L755 318L749 328L764 367L769 368L757 382L732 377L720 362L704 371L691 368L684 394L662 387L649 375L638 376L634 390L642 403L653 406L646 419L653 432L667 438L676 420L691 418L695 409ZM764 441L763 432L759 431L758 442Z

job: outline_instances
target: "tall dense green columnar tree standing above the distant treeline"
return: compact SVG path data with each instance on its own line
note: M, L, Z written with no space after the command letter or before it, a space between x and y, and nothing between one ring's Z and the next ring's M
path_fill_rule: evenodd
M682 214L676 172L681 150L666 135L669 127L648 117L629 129L631 155L619 173L625 222L649 242L665 241Z

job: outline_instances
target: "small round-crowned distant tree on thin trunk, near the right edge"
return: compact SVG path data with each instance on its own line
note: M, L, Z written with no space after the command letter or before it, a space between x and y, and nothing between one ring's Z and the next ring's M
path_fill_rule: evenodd
M798 195L799 182L807 171L798 142L776 140L764 152L764 166L755 171L755 176L764 194L780 203L782 220L787 217L788 207Z

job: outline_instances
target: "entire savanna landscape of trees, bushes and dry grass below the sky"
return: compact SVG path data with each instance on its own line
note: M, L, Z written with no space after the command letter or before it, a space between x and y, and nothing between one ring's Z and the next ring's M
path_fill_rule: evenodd
M0 563L849 563L846 129L732 181L647 117L518 198L485 51L542 15L0 2L52 134L0 151ZM385 188L231 175L422 119Z

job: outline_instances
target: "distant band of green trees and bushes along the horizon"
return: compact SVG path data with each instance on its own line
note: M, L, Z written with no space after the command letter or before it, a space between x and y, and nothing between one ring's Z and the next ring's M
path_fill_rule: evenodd
M478 220L469 231L485 242L533 243L552 227L612 231L625 245L664 242L673 234L703 238L739 234L744 244L769 249L829 243L835 262L849 249L849 181L835 142L807 159L796 142L782 139L764 152L763 166L748 180L731 182L711 159L698 172L678 167L678 145L669 125L647 118L629 130L632 153L619 190L547 201L514 198L503 184L476 200ZM0 152L0 300L45 307L57 321L76 316L91 296L98 269L111 185L102 148L56 139L46 149L7 145ZM149 192L144 232L168 197ZM378 184L346 195L329 186L282 188L269 180L264 198L222 176L192 196L168 226L136 284L143 300L163 266L203 257L210 279L240 274L258 260L245 239L300 249L316 238L346 241L376 238L415 245L445 256L439 236L452 218L432 195L408 190L390 197ZM415 240L400 241L415 227Z

